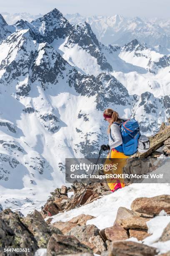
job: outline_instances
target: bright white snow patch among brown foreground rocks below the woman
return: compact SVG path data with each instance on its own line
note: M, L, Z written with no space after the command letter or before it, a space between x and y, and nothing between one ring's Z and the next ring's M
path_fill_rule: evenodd
M130 186L124 187L113 194L103 196L90 204L54 215L52 216L51 223L68 221L84 213L95 216L94 219L87 220L87 225L94 224L99 229L111 227L115 221L119 207L130 209L131 203L137 197L153 197L163 194L170 195L170 184L130 184ZM143 243L158 248L161 253L168 252L170 250L170 241L157 242L157 240L169 222L170 216L165 212L160 212L160 216L149 220L147 226L148 233L151 236L145 238ZM137 238L129 238L128 240L138 242Z

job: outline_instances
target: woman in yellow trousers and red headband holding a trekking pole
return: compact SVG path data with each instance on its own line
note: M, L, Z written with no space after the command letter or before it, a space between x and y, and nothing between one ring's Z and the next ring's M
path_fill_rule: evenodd
M102 145L101 149L103 151L110 150L107 155L105 164L117 164L116 170L111 170L111 172L105 172L107 174L122 174L123 167L126 164L128 156L123 154L122 148L122 136L121 136L121 122L122 119L119 117L118 113L111 108L107 108L104 113L104 120L109 123L107 133L109 134L109 142L107 145ZM114 160L115 159L115 160ZM125 187L123 179L107 179L107 184L112 192L117 189Z

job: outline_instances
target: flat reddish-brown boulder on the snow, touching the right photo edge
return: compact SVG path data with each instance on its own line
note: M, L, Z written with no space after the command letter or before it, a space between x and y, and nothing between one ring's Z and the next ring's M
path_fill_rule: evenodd
M139 197L132 202L131 208L134 211L146 214L158 215L161 210L170 214L170 195Z

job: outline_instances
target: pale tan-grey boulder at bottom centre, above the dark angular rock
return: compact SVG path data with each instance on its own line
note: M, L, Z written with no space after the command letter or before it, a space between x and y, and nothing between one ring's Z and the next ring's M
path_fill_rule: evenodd
M80 241L89 241L91 236L98 236L99 229L95 225L76 226L67 232L68 236L75 236Z

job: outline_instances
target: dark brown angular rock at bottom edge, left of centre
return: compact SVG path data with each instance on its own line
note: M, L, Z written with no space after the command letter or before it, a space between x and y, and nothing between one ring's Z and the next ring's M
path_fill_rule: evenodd
M47 256L64 255L76 253L90 253L92 250L80 243L77 238L73 236L63 236L53 234L47 244Z

